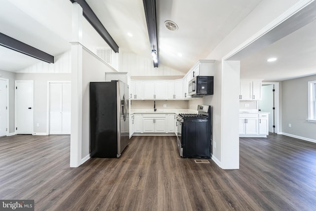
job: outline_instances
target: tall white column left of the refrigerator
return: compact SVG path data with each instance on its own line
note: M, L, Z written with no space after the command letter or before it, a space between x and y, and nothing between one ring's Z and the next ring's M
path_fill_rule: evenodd
M71 136L70 167L81 165L82 143L82 8L75 2L72 11L71 46Z

